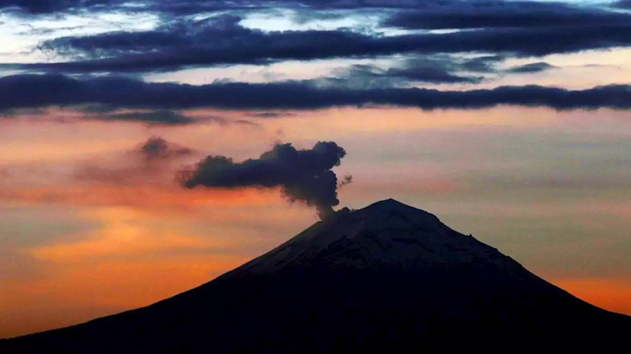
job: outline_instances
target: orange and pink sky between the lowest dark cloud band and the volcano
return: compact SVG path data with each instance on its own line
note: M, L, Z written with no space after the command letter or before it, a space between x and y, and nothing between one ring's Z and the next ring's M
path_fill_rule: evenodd
M333 140L346 149L336 172L355 181L339 191L341 206L396 198L423 208L572 294L631 314L631 195L621 168L631 163L628 112L186 113L228 123L0 123L0 337L151 304L315 222L314 210L278 190L182 190L174 182L177 169L201 156L255 157L276 140L301 148ZM229 123L242 118L257 125ZM155 135L195 153L140 168L129 152ZM86 166L103 178L79 178Z

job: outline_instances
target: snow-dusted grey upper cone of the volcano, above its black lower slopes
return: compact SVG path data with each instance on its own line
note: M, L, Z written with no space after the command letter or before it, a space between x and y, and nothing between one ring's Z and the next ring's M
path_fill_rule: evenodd
M469 263L521 268L497 249L445 226L435 215L387 199L359 210L343 208L226 276L314 265L410 270Z

